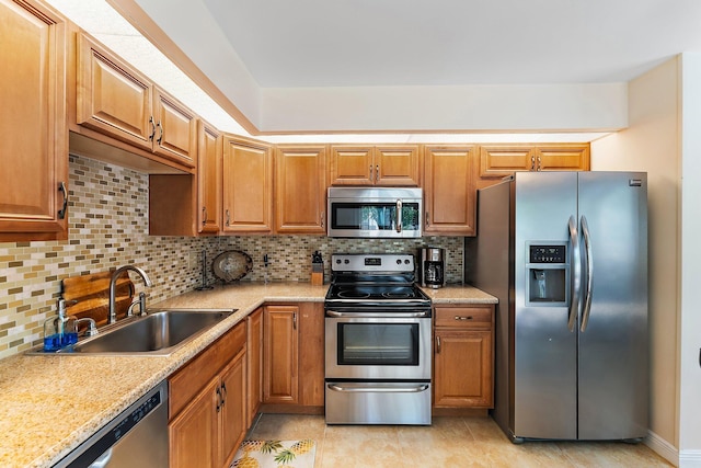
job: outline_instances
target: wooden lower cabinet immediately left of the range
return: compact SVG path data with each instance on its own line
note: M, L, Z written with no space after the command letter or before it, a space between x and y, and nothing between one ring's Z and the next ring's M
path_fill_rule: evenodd
M265 306L263 403L323 407L323 318L321 303Z

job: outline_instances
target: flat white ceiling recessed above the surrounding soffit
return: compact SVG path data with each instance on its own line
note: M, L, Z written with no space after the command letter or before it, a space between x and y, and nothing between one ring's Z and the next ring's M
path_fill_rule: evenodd
M699 0L198 1L263 88L629 81L701 50Z

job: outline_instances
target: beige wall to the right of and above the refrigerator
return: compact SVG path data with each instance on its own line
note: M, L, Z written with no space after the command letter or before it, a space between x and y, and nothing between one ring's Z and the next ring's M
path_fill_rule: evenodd
M593 170L648 173L652 444L678 449L679 321L679 85L678 59L629 83L630 127L591 144ZM659 447L657 447L659 448ZM659 452L659 450L658 450Z

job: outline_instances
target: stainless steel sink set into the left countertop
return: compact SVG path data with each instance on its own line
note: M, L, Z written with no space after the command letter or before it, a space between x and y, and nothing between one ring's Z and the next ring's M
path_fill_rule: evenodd
M169 355L231 316L235 309L150 309L146 317L120 320L62 349L61 355ZM47 354L42 349L30 354ZM51 353L54 354L54 353Z

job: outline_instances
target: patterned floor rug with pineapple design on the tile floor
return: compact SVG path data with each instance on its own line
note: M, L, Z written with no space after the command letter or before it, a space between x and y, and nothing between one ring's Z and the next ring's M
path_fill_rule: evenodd
M301 441L243 441L231 468L313 468L317 443Z

